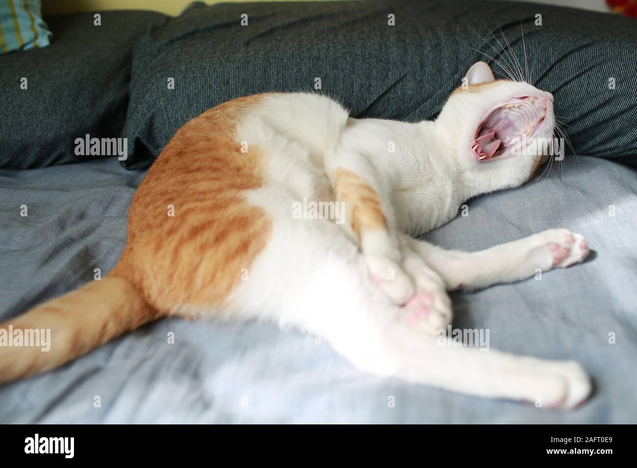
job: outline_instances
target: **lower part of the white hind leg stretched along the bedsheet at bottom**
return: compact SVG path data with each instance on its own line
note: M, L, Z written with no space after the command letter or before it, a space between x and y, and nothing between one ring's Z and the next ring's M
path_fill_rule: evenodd
M396 320L396 315L392 317ZM485 348L457 346L445 336L418 335L406 323L385 324L367 353L345 348L361 369L487 398L574 408L590 394L590 379L575 361L550 361ZM336 345L338 346L338 345Z

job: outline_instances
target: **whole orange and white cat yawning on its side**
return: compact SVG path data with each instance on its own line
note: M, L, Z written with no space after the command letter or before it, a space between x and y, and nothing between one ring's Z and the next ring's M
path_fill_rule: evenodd
M513 150L522 137L552 137L550 93L496 80L484 62L465 84L436 120L419 123L358 120L304 93L241 97L193 118L136 191L113 271L1 325L51 329L52 343L46 353L0 348L0 381L164 316L262 318L320 334L376 376L543 408L585 401L590 381L576 362L440 346L452 320L447 291L521 280L589 253L566 229L473 253L412 238L471 197L529 181L547 159ZM301 201L343 211L298 219Z

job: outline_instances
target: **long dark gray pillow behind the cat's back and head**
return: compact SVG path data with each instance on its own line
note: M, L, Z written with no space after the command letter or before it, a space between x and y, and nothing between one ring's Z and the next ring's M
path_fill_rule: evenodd
M259 92L321 92L355 117L434 118L476 60L505 74L473 50L499 60L499 28L526 74L520 22L530 81L555 94L575 152L637 153L633 18L495 1L252 3L193 6L138 42L122 164L147 167L190 118Z

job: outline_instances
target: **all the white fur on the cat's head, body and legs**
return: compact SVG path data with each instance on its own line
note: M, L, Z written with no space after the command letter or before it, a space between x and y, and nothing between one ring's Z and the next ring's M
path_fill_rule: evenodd
M471 70L472 80L489 81L482 66ZM583 401L590 383L575 362L440 346L435 336L452 316L446 290L547 271L551 243L569 251L556 266L579 261L585 255L581 236L567 244L568 231L548 230L464 253L408 235L448 222L469 197L529 179L536 157L480 164L469 155L468 141L494 103L543 94L527 83L499 82L484 92L454 94L435 122L417 124L350 118L338 103L314 94L266 95L236 132L237 141L267 154L266 184L247 196L273 220L268 245L231 297L237 314L321 334L352 363L380 376L483 397L542 399L545 408ZM552 118L550 112L539 136L552 135ZM389 233L359 243L347 223L292 218L292 204L304 197L334 201L330 179L339 168L378 192ZM383 280L375 283L372 274ZM417 291L433 294L433 303L427 318L413 323L401 304Z

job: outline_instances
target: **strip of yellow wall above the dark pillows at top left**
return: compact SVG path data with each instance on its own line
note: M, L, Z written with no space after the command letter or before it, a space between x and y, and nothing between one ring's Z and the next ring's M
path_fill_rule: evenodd
M99 10L153 10L176 16L194 0L43 0L43 15L60 15L78 11ZM220 3L222 0L204 0L205 3ZM268 0L224 0L234 2ZM271 1L271 0L269 0ZM289 0L287 0L289 1ZM296 0L299 1L299 0ZM303 1L303 0L301 0Z

